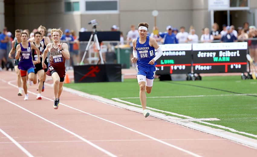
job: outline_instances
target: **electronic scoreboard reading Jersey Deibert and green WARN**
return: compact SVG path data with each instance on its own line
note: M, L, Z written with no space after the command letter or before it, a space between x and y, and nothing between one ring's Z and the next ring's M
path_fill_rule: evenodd
M247 42L193 44L194 73L246 72Z

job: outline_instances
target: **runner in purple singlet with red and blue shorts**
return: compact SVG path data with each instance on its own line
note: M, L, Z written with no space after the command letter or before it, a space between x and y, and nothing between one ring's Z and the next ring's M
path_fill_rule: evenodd
M19 60L18 68L21 72L22 85L25 93L24 100L28 100L27 81L26 76L28 72L29 80L34 80L34 64L32 62L32 49L37 51L37 63L40 63L39 49L33 44L28 42L28 34L21 33L21 43L16 47L15 59Z

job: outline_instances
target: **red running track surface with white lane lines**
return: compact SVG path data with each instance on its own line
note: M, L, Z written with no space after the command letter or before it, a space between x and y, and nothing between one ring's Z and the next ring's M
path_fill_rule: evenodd
M145 118L141 113L65 91L60 98L60 102L65 105L60 104L59 109L54 110L52 88L45 86L42 92L43 96L51 100L46 98L36 100L36 95L29 93L29 100L24 101L23 96L17 96L18 89L8 84L8 81L12 81L10 83L16 85L16 81L13 81L16 79L14 72L2 71L0 78L2 79L0 80L2 97L0 97L0 129L33 156L109 156L111 154L256 156L257 154L257 149L153 117ZM29 86L28 90L37 93L36 88L36 85L33 85ZM88 141L85 142L86 140L104 150L93 147ZM108 155L108 152L111 154ZM0 156L27 155L0 132Z

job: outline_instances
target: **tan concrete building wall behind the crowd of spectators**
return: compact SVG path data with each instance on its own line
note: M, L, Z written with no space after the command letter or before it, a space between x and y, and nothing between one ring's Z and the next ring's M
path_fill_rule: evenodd
M233 25L238 27L245 21L249 21L250 25L257 24L257 1L250 0L250 4L251 11L232 11L232 20L236 21ZM11 32L18 28L32 31L39 25L77 32L85 27L91 31L92 26L88 22L96 19L98 31L109 31L112 25L117 25L126 36L129 26L140 22L148 22L151 32L154 26L153 10L159 11L157 26L161 32L166 31L167 25L178 29L184 26L186 31L193 25L200 36L202 28L211 28L207 0L119 0L119 13L112 14L65 13L64 0L5 0L5 5L0 0L0 7L3 6L5 17L0 8L0 26L3 27L5 23ZM256 12L255 17L251 12Z

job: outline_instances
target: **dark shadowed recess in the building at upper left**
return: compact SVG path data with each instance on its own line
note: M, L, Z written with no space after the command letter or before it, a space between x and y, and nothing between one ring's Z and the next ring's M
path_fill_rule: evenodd
M8 0L5 2L5 24L8 30L63 27L63 0Z

